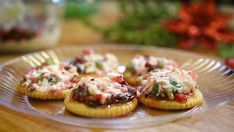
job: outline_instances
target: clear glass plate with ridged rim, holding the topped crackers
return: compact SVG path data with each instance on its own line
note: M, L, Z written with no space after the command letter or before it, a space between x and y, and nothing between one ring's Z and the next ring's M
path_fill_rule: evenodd
M58 58L58 61L67 61L84 48L93 48L98 53L113 53L118 56L122 65L136 54L149 54L168 57L176 60L185 69L195 71L198 75L198 85L202 91L205 103L202 106L181 111L161 111L139 104L132 113L118 118L95 119L73 115L66 111L63 100L42 101L29 98L16 91L25 71L34 64L43 62L43 57ZM27 59L33 60L29 63ZM234 73L222 63L205 58L197 54L166 48L149 46L126 45L89 45L64 47L55 50L41 51L28 54L8 61L0 67L0 104L13 110L36 116L50 118L66 124L92 128L140 128L157 125L179 118L187 117L198 112L212 110L222 106L234 98Z

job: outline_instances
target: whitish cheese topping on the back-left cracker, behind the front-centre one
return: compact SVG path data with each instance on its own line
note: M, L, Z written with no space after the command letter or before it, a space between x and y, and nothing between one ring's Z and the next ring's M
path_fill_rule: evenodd
M115 71L118 68L118 59L115 55L107 53L105 55L100 54L86 54L83 55L83 58L86 62L76 65L80 68L83 73L97 73L100 71L111 72ZM97 66L97 62L99 63Z

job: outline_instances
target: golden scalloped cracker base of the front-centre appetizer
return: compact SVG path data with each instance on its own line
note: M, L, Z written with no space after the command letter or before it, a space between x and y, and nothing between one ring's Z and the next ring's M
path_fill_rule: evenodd
M65 107L68 111L85 117L94 117L94 118L111 118L123 116L137 107L137 99L134 98L132 101L124 104L113 104L110 107L97 107L92 108L88 107L83 103L79 103L70 98L70 95L67 95L64 100Z

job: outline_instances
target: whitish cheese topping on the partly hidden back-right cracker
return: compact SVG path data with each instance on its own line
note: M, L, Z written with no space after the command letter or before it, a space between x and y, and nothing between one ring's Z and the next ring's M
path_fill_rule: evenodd
M161 65L163 68L166 69L173 69L177 66L177 63L173 60L163 58L163 57L155 57L155 56L142 56L136 55L132 61L131 65L135 69L137 74L142 74L147 72L146 63L149 62L151 65Z

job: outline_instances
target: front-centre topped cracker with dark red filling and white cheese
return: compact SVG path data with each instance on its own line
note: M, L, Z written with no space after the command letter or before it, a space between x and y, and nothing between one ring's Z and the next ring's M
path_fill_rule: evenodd
M80 116L111 118L133 111L137 106L136 95L137 91L126 84L121 74L108 73L81 78L64 104L68 111Z

